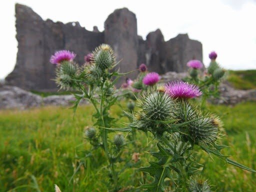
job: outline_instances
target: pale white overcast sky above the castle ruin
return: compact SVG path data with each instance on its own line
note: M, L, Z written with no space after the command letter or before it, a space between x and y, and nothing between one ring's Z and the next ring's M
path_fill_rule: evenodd
M106 17L116 8L127 7L136 14L138 34L144 39L159 28L164 39L188 33L201 41L203 62L215 50L226 69L256 69L256 0L3 0L0 11L0 78L16 62L15 2L30 6L43 19L78 21L100 31Z

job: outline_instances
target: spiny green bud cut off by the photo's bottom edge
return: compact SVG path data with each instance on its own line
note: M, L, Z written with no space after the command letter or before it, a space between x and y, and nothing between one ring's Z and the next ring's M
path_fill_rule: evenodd
M196 175L191 177L187 182L189 192L210 192L208 181L203 177Z

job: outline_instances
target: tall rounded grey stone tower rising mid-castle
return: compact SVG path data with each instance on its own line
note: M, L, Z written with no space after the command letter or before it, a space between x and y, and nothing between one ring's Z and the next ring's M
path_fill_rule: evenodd
M128 72L137 68L137 19L127 8L114 10L104 22L104 42L109 44L121 62L117 65L120 72ZM127 77L135 78L136 73ZM120 79L124 81L124 77Z

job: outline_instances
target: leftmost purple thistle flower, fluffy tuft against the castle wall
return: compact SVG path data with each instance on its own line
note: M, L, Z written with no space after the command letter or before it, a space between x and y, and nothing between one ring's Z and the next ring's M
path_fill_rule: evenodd
M69 50L59 50L59 51L56 51L54 55L51 55L50 62L52 64L59 64L64 60L70 61L70 60L73 60L75 55L76 55L75 53L70 52Z

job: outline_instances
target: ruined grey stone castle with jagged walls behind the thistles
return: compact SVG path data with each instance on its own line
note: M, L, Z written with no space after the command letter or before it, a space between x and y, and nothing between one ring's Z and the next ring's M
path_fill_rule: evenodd
M187 34L178 34L164 41L161 31L157 29L149 32L143 40L137 35L136 16L127 8L114 10L105 20L103 32L99 32L96 26L93 31L88 31L78 22L44 21L31 8L21 4L15 5L15 16L17 59L5 82L26 90L57 89L52 80L55 76L54 65L49 63L49 57L61 49L74 51L77 54L75 61L82 64L85 54L101 43L108 43L113 47L117 60L121 60L118 65L121 72L133 70L140 63L160 74L182 72L186 70L188 60L202 60L202 44L189 39Z

